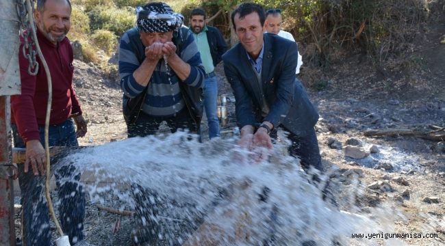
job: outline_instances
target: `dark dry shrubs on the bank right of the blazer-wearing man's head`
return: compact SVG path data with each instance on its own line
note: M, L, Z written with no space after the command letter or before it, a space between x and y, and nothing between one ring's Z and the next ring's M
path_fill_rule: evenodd
M284 27L298 42L314 44L309 64L328 67L336 49L361 52L374 64L398 55L414 39L423 18L421 0L258 1L281 8Z

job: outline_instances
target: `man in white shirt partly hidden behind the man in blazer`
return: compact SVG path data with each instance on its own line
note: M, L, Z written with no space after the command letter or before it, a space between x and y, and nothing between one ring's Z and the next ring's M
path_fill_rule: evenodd
M264 29L268 33L277 34L280 37L283 37L288 40L294 40L294 36L288 31L281 30L281 25L283 24L283 19L281 18L281 10L280 9L272 9L266 11L266 21L264 22ZM303 59L298 52L298 64L296 65L295 74L300 73L300 67L303 65Z

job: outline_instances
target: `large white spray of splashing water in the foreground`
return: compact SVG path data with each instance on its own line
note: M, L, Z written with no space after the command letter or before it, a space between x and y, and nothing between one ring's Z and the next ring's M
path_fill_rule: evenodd
M246 161L249 153L235 143L199 143L185 132L134 137L79 150L62 163L90 174L83 185L92 202L138 210L131 187L153 191L147 207L158 210L151 219L168 245L331 245L384 226L323 201L285 141L261 163Z

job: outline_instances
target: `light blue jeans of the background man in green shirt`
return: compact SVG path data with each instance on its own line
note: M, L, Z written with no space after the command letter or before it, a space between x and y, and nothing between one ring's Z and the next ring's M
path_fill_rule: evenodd
M219 137L219 121L216 115L216 103L218 100L218 80L216 76L205 78L204 85L204 109L209 126L209 139Z

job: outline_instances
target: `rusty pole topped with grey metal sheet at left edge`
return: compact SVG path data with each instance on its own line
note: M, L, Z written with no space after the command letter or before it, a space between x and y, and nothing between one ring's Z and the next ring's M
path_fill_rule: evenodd
M16 245L10 96L21 93L16 1L0 1L0 245Z

